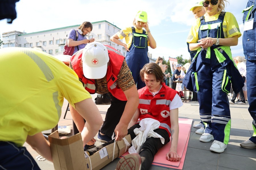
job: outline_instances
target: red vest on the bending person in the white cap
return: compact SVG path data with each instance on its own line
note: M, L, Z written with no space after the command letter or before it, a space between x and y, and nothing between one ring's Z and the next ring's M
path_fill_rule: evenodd
M104 44L105 45L105 44ZM107 69L107 86L108 91L117 99L122 101L127 101L123 90L116 84L117 75L123 65L124 56L117 51L115 48L105 45L108 50L109 65ZM82 80L87 90L90 94L95 93L95 81L94 79L88 79L84 76L81 66L83 50L79 50L73 56L70 57L70 62L73 70L77 73L78 77Z

